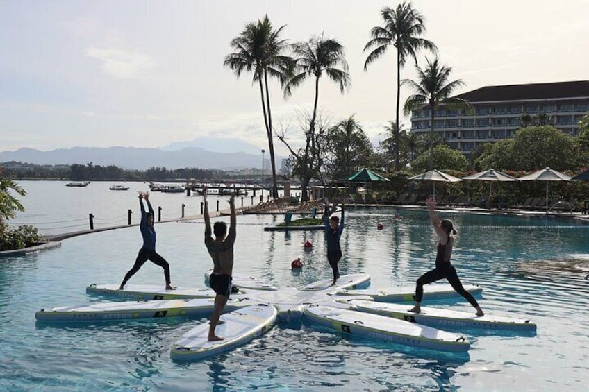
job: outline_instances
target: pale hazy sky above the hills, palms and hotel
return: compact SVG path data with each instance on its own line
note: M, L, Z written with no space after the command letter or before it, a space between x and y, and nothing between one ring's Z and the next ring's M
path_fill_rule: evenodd
M229 42L268 15L282 37L324 34L345 47L351 88L320 82L320 108L354 115L376 143L395 119L395 51L364 70L370 29L399 1L374 0L0 0L0 151L134 146L160 148L198 137L267 151L260 92L251 74L223 66ZM425 38L452 68L456 94L487 85L589 79L589 0L415 0ZM431 53L420 52L424 66ZM415 79L408 60L401 78ZM272 80L274 129L292 146L313 81L283 98ZM410 95L401 90L401 108ZM410 126L407 117L401 120ZM288 155L274 140L276 153Z

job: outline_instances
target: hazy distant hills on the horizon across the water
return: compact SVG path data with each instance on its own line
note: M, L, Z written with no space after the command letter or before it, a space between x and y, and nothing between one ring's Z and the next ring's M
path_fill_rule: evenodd
M192 143L192 142L190 142ZM219 143L219 142L217 142ZM226 144L233 144L226 141ZM208 143L207 145L210 145ZM181 144L175 144L176 148ZM165 148L172 148L167 146ZM249 151L256 151L252 146ZM235 146L233 146L235 148ZM269 155L265 155L264 167L269 169ZM283 157L276 157L276 167L281 167ZM150 167L166 167L178 169L182 167L197 167L201 169L235 170L260 168L262 157L260 153L243 152L213 152L199 147L185 147L171 151L160 148L135 147L73 147L59 148L52 151L39 151L33 148L19 148L17 151L0 152L0 162L23 162L31 164L87 164L115 165L122 169L145 170Z

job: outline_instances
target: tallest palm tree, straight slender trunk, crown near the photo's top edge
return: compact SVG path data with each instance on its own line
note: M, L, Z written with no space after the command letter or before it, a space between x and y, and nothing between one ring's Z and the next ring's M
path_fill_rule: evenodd
M397 49L397 107L395 110L395 124L399 125L399 102L401 102L401 68L408 56L413 57L417 64L415 53L420 49L429 49L434 53L438 50L435 44L421 38L426 31L424 17L413 9L411 3L404 1L397 8L385 7L381 10L384 26L376 26L370 30L372 40L364 46L364 51L373 49L364 63L364 70L368 65L386 53L389 46ZM399 128L395 130L395 144L399 146ZM399 170L399 149L395 151L395 169Z

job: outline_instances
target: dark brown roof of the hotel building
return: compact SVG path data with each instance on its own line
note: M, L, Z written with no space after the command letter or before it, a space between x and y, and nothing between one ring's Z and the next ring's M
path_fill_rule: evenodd
M457 96L470 102L524 101L589 97L589 80L534 83L531 85L486 86Z

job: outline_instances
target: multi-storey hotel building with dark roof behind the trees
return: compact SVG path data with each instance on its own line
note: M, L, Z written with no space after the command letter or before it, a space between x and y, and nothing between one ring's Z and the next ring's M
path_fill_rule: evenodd
M589 80L481 87L457 96L470 102L472 114L440 107L433 131L467 157L479 146L513 137L520 117L545 113L550 123L572 136L589 112ZM411 132L429 134L429 108L411 114Z

